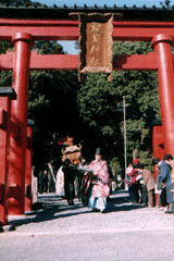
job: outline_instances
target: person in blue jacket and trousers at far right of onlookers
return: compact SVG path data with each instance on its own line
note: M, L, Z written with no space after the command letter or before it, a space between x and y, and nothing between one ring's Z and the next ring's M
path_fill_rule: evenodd
M165 154L161 164L160 164L160 174L161 174L161 181L165 185L166 188L166 202L170 204L170 209L164 211L164 213L173 213L172 210L172 201L173 201L173 195L171 192L171 172L172 167L170 165L170 162L173 160L173 156Z

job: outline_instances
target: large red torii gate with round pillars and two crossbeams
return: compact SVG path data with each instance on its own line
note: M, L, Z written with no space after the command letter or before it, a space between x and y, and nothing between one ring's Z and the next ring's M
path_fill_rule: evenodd
M1 8L0 8L1 10ZM0 167L1 178L1 201L0 222L7 223L7 214L23 214L25 211L25 173L26 173L26 148L27 148L27 102L28 102L28 76L29 70L78 70L78 57L71 54L44 55L30 52L35 40L78 40L78 21L71 21L66 15L62 15L62 9L57 9L57 15L49 18L52 9L47 9L47 17L41 15L34 17L36 10L29 10L25 16L24 9L10 9L9 14L2 9L0 17L0 39L11 40L14 45L14 52L0 55L0 70L12 70L12 87L17 95L17 100L11 101L11 133L9 147L3 147L0 154L4 154L4 149L10 149L9 161L5 160L8 169ZM45 13L44 9L37 9ZM126 9L125 9L126 10ZM116 40L151 41L154 52L147 55L115 55L113 57L113 70L145 70L158 71L160 105L163 125L164 150L174 156L173 129L174 129L174 104L173 104L173 53L171 45L174 37L174 21L170 10L170 20L165 21L165 10L158 10L156 21L152 16L154 10L148 11L146 18L145 10L128 10L133 15L128 15L127 10L97 9L97 12L123 13L123 20L113 20L112 38ZM9 10L8 10L9 11ZM64 12L72 12L65 9ZM84 12L84 9L75 11ZM91 9L90 12L96 10ZM60 12L60 18L58 14ZM85 9L86 12L86 9ZM136 12L136 13L135 13ZM152 13L151 13L152 12ZM151 13L151 15L149 14ZM134 16L134 14L136 14ZM169 10L165 14L169 14ZM173 15L173 13L172 13ZM57 17L55 17L57 16ZM18 18L20 17L20 18ZM1 98L0 98L1 99ZM2 104L2 109L3 108ZM3 117L3 115L1 115ZM15 132L12 132L12 126ZM14 130L14 129L13 129ZM10 132L10 130L7 130ZM3 151L2 151L3 150ZM9 157L7 153L4 157ZM7 158L5 158L7 159ZM7 182L9 179L9 183ZM3 187L5 186L5 197ZM10 197L9 197L10 194ZM8 206L8 207L7 207ZM7 211L8 210L8 211Z

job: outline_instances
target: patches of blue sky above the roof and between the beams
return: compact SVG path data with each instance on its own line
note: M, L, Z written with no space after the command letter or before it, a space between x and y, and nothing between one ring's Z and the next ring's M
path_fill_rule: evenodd
M122 8L124 4L126 4L127 8L132 8L134 4L136 4L137 8L141 8L146 4L147 8L151 8L152 5L160 8L160 2L164 2L164 0L32 0L32 2L40 2L42 4L47 4L48 7L53 7L53 4L57 4L57 7L63 7L66 4L69 8L74 7L74 4L80 8L84 7L84 4L87 7L95 7L95 4L97 4L99 8L102 8L104 4L109 8L112 8L114 4L119 8ZM174 0L171 0L171 5L173 4ZM78 50L75 49L74 41L59 41L59 44L63 46L63 50L69 54L78 54Z

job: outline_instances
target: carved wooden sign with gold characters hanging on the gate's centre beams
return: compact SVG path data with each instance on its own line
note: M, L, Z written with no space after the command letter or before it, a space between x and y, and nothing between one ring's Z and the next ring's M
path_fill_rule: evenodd
M82 74L87 72L107 73L111 80L113 15L112 13L78 13L79 80ZM73 13L71 16L73 17Z

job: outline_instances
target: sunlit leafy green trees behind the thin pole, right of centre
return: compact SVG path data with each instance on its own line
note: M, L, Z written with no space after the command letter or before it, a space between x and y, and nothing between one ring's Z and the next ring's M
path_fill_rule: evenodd
M147 54L149 42L116 41L113 53ZM113 72L111 83L103 74L87 74L78 90L77 104L94 145L104 146L109 160L117 157L124 164L123 96L126 97L127 152L148 151L151 156L151 122L160 117L156 72ZM148 161L147 161L148 162ZM146 162L145 162L146 163ZM148 163L147 163L148 164Z

